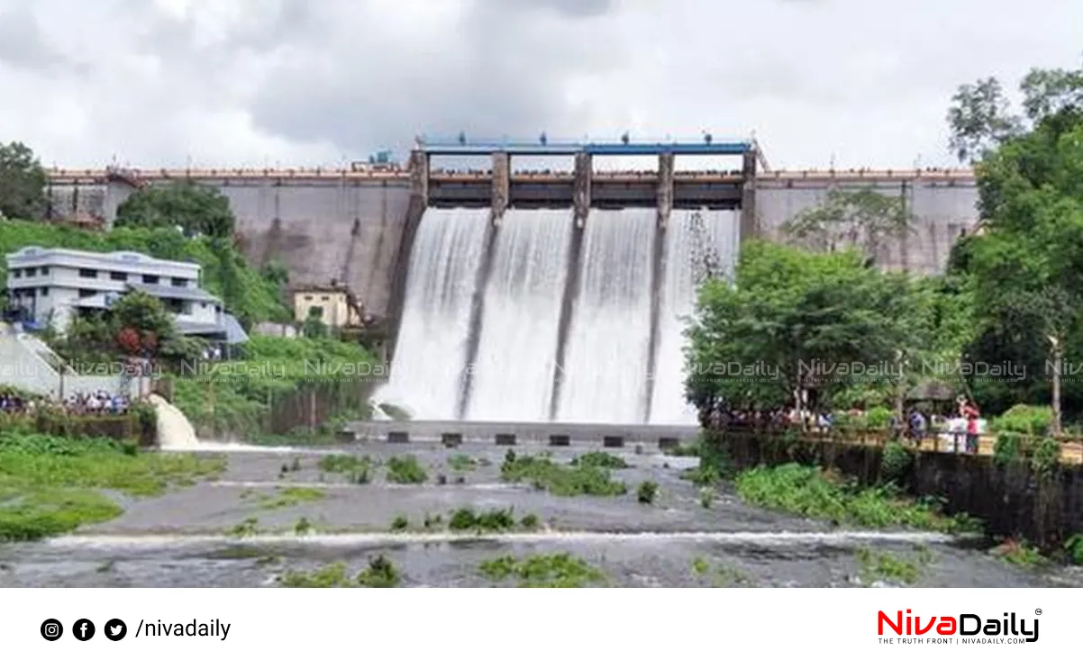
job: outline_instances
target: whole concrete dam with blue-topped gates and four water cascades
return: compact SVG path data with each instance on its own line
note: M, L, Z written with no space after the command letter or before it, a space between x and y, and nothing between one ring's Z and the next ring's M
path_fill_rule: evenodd
M521 171L518 155L574 156ZM595 156L656 155L605 172ZM675 155L743 156L736 171L678 171ZM442 155L491 169L434 169ZM975 227L968 171L770 171L754 143L419 146L407 169L64 171L56 219L110 221L130 193L191 179L231 201L250 260L290 283L337 279L396 332L382 398L420 420L695 423L683 399L684 317L706 271L731 274L742 238L780 228L832 188L899 197L915 222L877 259L942 271Z

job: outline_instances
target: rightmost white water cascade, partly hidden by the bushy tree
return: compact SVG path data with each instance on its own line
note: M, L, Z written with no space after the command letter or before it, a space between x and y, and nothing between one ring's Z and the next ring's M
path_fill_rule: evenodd
M697 279L705 272L732 277L740 245L735 210L674 210L666 227L654 393L650 422L695 424L684 401L684 329L695 309Z

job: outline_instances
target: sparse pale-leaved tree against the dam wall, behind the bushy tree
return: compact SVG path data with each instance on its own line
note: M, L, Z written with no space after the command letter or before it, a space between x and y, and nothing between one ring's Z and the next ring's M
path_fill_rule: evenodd
M892 239L901 239L912 228L902 197L871 188L835 188L823 202L786 221L782 231L812 250L857 248L875 260Z

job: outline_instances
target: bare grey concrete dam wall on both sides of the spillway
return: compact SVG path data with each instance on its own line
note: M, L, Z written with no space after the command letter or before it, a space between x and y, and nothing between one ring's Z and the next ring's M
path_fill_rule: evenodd
M200 179L230 198L249 260L262 265L279 258L290 284L349 285L369 313L389 316L396 258L407 224L408 178L350 179L328 174ZM760 176L748 188L755 228L777 238L785 221L823 200L832 187L873 187L906 200L916 229L880 259L888 267L940 272L952 244L978 220L973 179L877 179ZM113 221L133 187L122 181L50 186L54 218Z

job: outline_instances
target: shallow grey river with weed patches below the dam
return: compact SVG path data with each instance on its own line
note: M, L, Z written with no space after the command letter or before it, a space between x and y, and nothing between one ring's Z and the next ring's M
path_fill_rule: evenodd
M628 495L556 497L501 483L508 449L492 445L340 450L376 460L410 452L429 471L421 485L388 484L382 467L369 483L349 483L321 471L319 460L329 449L214 444L197 449L229 458L217 481L158 498L125 499L123 515L69 536L0 545L0 587L263 587L275 585L286 569L343 562L360 570L378 553L402 570L406 587L483 587L492 585L478 568L483 561L565 551L604 572L610 585L623 587L890 586L890 579L867 569L870 551L910 562L925 555L919 578L911 583L919 587L1051 587L1081 580L1078 570L1010 565L949 537L843 529L753 508L726 491L704 508L696 487L679 476L694 458L621 449L614 452L631 467L615 470L614 476L627 482ZM583 452L514 450L549 451L558 461ZM448 461L455 454L479 464L455 471ZM444 485L438 481L441 473L447 477ZM636 499L635 486L644 480L658 484L653 504ZM310 496L317 489L323 497L274 508L282 489L290 487L305 488ZM517 519L535 514L540 528L484 537L423 529L427 514L441 515L446 526L451 512L461 507L513 507ZM408 519L409 528L393 533L399 515ZM301 517L318 532L297 536ZM256 534L227 534L247 519L258 520Z

